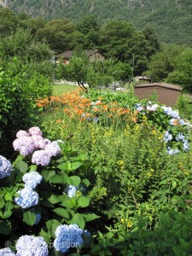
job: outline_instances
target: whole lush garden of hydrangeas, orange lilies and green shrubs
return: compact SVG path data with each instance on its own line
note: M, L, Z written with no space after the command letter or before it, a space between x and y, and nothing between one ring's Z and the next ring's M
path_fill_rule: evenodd
M0 76L0 255L191 255L186 97L54 95L44 76Z

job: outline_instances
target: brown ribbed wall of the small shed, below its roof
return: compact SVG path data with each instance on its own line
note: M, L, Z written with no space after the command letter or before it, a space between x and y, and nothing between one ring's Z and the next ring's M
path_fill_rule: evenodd
M147 98L149 100L150 96L153 95L153 91L156 92L157 100L166 106L172 106L176 104L178 96L182 94L180 90L172 90L165 87L151 86L151 87L135 87L135 94L140 100Z

